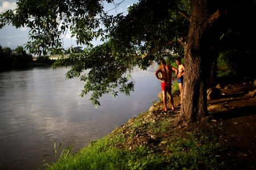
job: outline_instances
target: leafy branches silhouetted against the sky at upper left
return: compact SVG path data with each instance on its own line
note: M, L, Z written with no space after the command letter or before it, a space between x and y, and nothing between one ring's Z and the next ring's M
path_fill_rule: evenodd
M0 16L0 27L12 24L30 28L26 48L31 53L46 54L50 48L60 49L68 31L78 44L91 46L94 38L108 33L120 16L108 16L102 1L18 1L18 8ZM108 3L112 0L106 1ZM104 29L103 29L104 28Z

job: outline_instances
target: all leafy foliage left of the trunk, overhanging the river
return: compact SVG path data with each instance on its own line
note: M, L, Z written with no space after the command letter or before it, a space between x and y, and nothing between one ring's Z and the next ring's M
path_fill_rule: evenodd
M104 1L22 0L17 4L16 10L0 15L0 26L29 27L26 48L31 53L66 53L62 36L68 31L77 44L88 46L84 52L60 58L53 67L72 65L67 78L80 77L85 82L81 96L92 91L95 105L100 105L98 99L106 93L129 95L134 90L133 67L147 69L160 57L182 54L178 39L187 32L188 20L178 11L190 12L185 0L139 1L129 7L127 16L109 15ZM94 39L103 43L93 46Z

